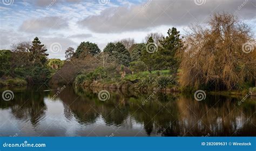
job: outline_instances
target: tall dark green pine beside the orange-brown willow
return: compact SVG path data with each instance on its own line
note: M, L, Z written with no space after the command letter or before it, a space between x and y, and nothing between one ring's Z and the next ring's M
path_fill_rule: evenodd
M173 73L177 73L179 60L176 54L183 47L182 37L180 37L179 31L176 28L169 29L167 34L168 36L163 37L163 40L159 41L159 55L157 55L156 60L160 67L165 67L161 69L169 68Z

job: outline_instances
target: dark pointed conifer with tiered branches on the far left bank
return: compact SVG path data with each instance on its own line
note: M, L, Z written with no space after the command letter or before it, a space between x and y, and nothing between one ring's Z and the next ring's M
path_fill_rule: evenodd
M45 46L41 44L40 40L36 37L33 42L32 46L29 49L30 52L30 60L32 63L35 63L36 61L44 64L46 61L46 57L49 55L45 53L47 49L45 49Z

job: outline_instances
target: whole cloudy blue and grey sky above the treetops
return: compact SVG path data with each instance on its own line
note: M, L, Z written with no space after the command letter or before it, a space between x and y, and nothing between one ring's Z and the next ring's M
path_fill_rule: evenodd
M151 32L182 35L193 24L207 26L214 13L229 12L248 24L255 37L256 0L0 0L0 50L38 37L49 58L65 59L65 50L81 42L133 38Z

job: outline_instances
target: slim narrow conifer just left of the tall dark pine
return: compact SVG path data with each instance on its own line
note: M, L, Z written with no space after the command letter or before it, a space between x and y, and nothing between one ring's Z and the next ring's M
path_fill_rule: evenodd
M150 52L148 51L149 49L153 49L153 51ZM150 37L149 40L147 40L146 49L143 50L142 52L142 61L147 66L147 71L149 71L150 74L154 70L154 67L156 66L155 64L156 55L154 54L154 53L157 53L156 50L157 50L157 47L156 45L154 45L154 40L152 37Z

